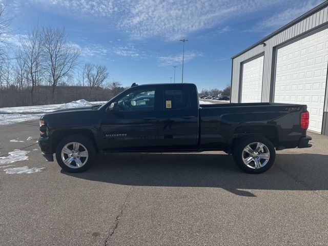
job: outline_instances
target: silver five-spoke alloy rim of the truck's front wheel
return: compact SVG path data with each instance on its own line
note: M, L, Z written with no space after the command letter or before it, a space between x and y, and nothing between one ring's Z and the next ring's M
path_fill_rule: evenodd
M61 159L69 168L80 168L88 161L88 150L79 142L69 142L61 149Z

